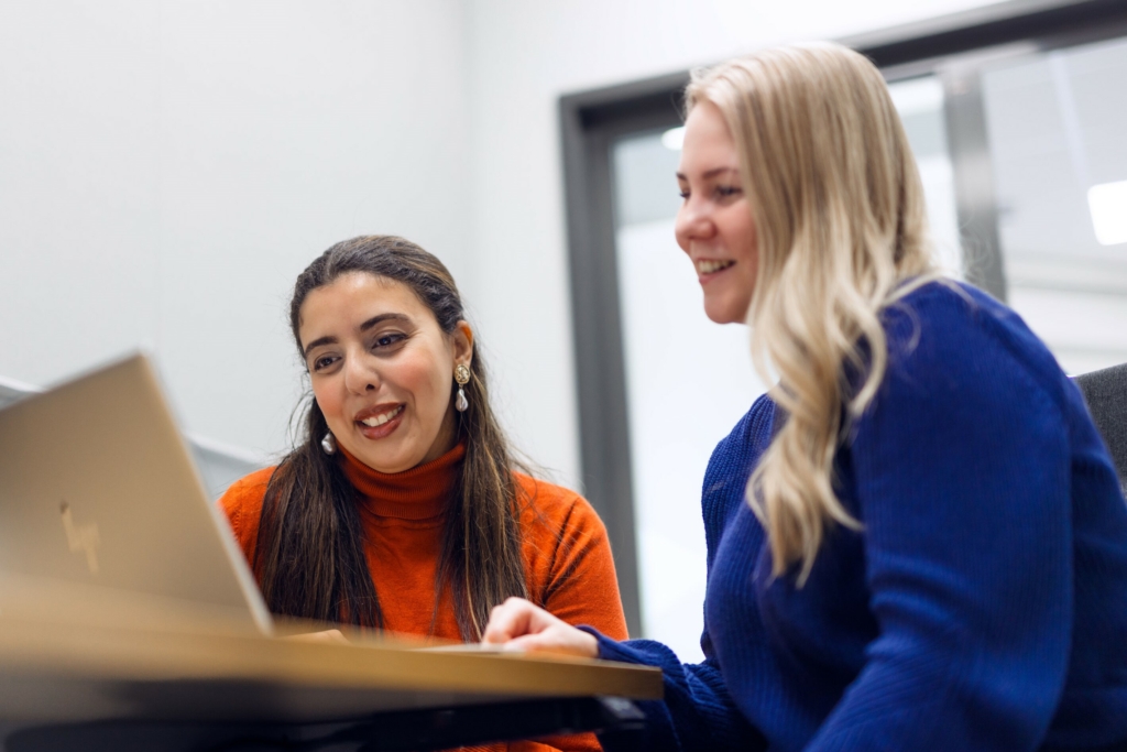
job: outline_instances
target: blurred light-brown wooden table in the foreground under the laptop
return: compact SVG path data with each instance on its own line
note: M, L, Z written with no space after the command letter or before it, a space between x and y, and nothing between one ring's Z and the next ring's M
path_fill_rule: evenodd
M637 726L662 697L659 670L601 661L81 621L0 612L6 750L434 750Z

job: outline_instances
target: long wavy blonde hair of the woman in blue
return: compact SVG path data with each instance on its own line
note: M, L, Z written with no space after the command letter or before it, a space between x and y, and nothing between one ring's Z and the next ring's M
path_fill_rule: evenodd
M694 73L686 105L716 105L739 156L757 235L747 321L756 371L786 419L747 501L772 570L805 583L827 529L860 524L837 498L834 454L880 386L880 312L938 276L923 187L880 72L818 43ZM860 374L860 384L848 372Z

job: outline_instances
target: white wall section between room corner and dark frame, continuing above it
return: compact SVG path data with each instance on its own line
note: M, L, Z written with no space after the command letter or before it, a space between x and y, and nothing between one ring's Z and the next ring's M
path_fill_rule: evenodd
M468 0L473 269L463 284L492 345L512 425L534 458L578 478L560 95L984 5Z

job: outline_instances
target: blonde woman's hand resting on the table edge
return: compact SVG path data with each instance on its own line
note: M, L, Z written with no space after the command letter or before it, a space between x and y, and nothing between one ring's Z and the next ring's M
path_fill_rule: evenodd
M527 653L598 657L598 640L593 636L557 619L523 598L509 598L494 607L481 643Z

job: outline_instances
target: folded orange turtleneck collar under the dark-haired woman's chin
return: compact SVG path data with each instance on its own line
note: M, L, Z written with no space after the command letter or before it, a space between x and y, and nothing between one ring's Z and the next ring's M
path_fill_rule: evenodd
M364 497L367 508L382 517L427 520L438 516L450 505L458 474L465 459L465 442L436 460L402 472L380 472L367 467L340 446L345 476Z

